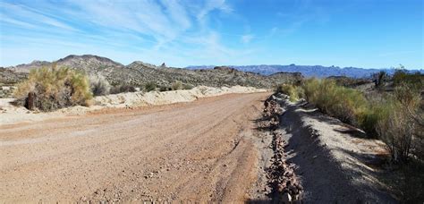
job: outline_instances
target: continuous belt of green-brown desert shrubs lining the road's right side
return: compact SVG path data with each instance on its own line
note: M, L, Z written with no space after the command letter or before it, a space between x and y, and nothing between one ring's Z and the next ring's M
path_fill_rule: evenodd
M424 160L424 75L398 69L373 75L374 89L353 89L334 79L315 78L276 91L291 101L305 98L327 115L350 123L386 143L392 183L404 201L422 200ZM343 80L344 81L344 80Z

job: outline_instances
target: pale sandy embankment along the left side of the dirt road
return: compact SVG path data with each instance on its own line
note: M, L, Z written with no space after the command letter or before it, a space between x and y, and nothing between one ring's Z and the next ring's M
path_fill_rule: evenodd
M0 125L13 123L30 123L42 121L66 115L81 115L87 112L99 110L105 107L134 107L134 106L157 106L182 102L191 102L197 98L215 97L230 93L253 93L264 92L267 89L252 87L222 87L212 88L199 86L194 89L172 90L165 92L130 92L120 93L93 98L93 106L72 106L50 113L29 111L25 107L13 106L13 98L0 98Z

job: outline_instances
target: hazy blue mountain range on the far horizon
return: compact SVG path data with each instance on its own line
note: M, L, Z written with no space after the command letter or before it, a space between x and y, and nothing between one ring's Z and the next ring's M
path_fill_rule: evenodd
M197 70L197 69L212 69L215 65L199 65L199 66L188 66L187 69ZM270 75L276 72L301 72L305 77L318 77L326 78L329 76L347 76L352 78L369 78L372 73L386 71L389 74L394 73L394 69L364 69L357 67L344 67L340 68L338 66L321 66L321 65L228 65L228 67L233 67L234 69L243 71L243 72L255 72L264 75ZM424 73L424 70L409 70L409 72L421 72Z

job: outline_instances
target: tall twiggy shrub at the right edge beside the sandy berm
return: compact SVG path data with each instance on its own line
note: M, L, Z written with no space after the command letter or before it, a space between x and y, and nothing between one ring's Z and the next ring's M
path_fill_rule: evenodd
M423 154L422 99L416 84L401 83L386 97L386 117L377 122L377 133L385 141L395 162L405 163L412 155L420 160Z

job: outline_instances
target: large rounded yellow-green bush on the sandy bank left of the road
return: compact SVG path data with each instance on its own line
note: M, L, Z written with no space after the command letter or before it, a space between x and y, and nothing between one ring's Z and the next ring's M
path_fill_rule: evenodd
M23 106L30 93L34 96L33 105L42 111L88 106L92 98L84 73L55 65L31 70L28 80L21 82L14 92L16 103Z

